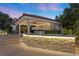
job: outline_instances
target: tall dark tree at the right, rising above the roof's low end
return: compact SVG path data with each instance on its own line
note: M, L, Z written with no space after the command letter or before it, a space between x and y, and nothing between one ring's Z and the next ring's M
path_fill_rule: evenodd
M59 16L59 20L62 23L63 28L71 29L73 34L76 34L79 27L79 4L72 3L69 5L70 8L64 9L63 14Z

